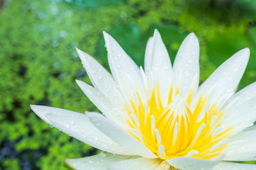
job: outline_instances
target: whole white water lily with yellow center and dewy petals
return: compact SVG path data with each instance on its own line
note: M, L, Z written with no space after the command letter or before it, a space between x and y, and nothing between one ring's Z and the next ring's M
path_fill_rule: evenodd
M74 169L256 169L256 83L236 92L250 51L244 48L198 87L199 44L182 42L175 62L159 32L136 66L104 32L111 74L77 49L93 86L77 84L100 113L31 105L36 115L104 152L67 159ZM114 154L113 154L114 153Z

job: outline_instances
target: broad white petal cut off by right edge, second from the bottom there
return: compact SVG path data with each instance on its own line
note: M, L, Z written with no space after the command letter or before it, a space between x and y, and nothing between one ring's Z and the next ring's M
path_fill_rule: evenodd
M229 139L223 160L256 160L256 130L239 132Z

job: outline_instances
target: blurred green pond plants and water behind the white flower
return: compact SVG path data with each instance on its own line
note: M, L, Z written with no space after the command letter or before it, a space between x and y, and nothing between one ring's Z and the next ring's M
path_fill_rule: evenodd
M239 89L256 80L254 0L0 0L0 169L65 169L63 159L97 150L49 127L29 108L97 110L76 85L90 82L75 47L108 67L102 31L143 66L158 29L173 61L182 39L200 41L200 81L248 46Z

